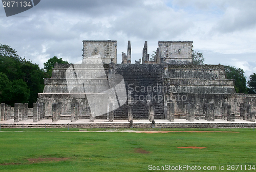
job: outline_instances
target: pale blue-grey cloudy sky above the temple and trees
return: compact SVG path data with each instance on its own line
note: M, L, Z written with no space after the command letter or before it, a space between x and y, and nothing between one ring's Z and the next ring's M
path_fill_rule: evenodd
M82 58L82 40L117 40L118 63L131 40L132 63L158 40L193 40L206 64L256 73L254 0L41 0L34 8L6 17L0 7L0 44L43 63L53 56Z

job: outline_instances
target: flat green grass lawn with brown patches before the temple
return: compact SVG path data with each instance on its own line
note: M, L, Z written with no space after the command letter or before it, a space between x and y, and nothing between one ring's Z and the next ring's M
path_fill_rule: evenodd
M61 132L68 129L24 128L24 132L14 132L22 131L22 128L2 128L0 171L154 171L153 166L165 165L170 168L179 165L217 167L209 171L249 171L250 165L256 165L256 131L249 128L161 130L239 133L71 132L78 130L69 128L69 132ZM207 148L178 148L187 146ZM149 170L149 165L152 165L152 170ZM220 170L220 165L225 169ZM228 170L228 165L242 165L242 170L241 166L234 166L234 170L230 166ZM175 171L200 170L184 168Z

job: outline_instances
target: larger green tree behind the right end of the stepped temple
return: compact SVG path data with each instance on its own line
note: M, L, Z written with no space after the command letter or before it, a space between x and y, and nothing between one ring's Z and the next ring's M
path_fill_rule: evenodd
M246 77L243 69L225 66L227 79L234 79L234 89L237 93L248 93L246 87Z

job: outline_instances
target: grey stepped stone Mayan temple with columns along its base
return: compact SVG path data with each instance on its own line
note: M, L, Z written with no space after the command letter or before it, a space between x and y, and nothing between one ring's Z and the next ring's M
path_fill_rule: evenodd
M237 94L223 65L193 65L193 41L159 41L153 61L145 41L135 63L131 41L121 64L116 40L83 40L82 51L75 64L55 64L32 110L16 103L12 116L2 104L1 114L14 122L255 121L256 95Z

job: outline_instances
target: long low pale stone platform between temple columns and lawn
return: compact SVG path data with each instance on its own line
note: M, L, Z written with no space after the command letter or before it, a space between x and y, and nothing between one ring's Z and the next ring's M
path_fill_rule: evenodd
M155 124L148 120L133 120L132 125L127 120L115 120L109 122L106 119L96 119L94 122L90 122L89 119L79 119L76 122L70 122L70 120L59 120L52 122L51 119L45 119L38 122L33 122L32 119L20 121L14 123L14 120L7 120L0 122L1 128L43 128L43 127L73 127L73 128L253 128L256 126L256 122L250 122L237 119L234 122L229 122L221 119L215 119L215 121L207 120L195 120L189 122L185 119L175 119L175 122L169 122L168 120L155 120Z

